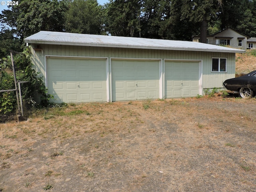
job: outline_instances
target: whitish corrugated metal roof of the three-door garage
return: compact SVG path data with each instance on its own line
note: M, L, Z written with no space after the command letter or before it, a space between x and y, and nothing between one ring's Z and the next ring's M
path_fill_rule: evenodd
M24 39L31 44L54 44L71 46L95 46L112 48L135 48L156 50L187 50L204 52L243 53L244 50L190 41L120 37L66 32L40 31Z

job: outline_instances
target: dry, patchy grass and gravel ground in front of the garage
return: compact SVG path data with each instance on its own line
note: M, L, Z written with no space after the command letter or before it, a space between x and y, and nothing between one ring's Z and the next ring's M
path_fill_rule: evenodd
M256 99L70 105L0 124L2 192L256 192Z

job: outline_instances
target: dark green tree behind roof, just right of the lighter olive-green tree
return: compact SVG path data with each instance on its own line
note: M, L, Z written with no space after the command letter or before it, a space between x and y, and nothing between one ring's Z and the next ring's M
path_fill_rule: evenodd
M115 36L140 36L141 0L110 0L106 4L106 31Z

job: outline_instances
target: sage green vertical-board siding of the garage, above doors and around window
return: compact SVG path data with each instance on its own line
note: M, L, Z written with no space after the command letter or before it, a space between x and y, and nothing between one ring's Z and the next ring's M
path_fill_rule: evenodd
M235 53L222 52L199 52L199 51L174 51L174 50L146 50L130 48L101 48L84 46L63 45L39 45L42 50L34 50L32 45L32 62L35 68L45 74L45 56L83 56L83 57L106 57L110 66L110 58L156 58L176 60L202 60L202 87L222 88L222 82L228 78L235 77ZM185 48L184 48L185 49ZM212 57L227 58L227 72L212 73Z

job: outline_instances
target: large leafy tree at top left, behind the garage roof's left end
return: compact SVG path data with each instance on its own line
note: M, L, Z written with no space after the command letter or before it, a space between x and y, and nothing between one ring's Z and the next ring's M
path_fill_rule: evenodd
M67 2L58 0L21 0L4 10L0 20L6 30L23 40L40 30L63 31Z

